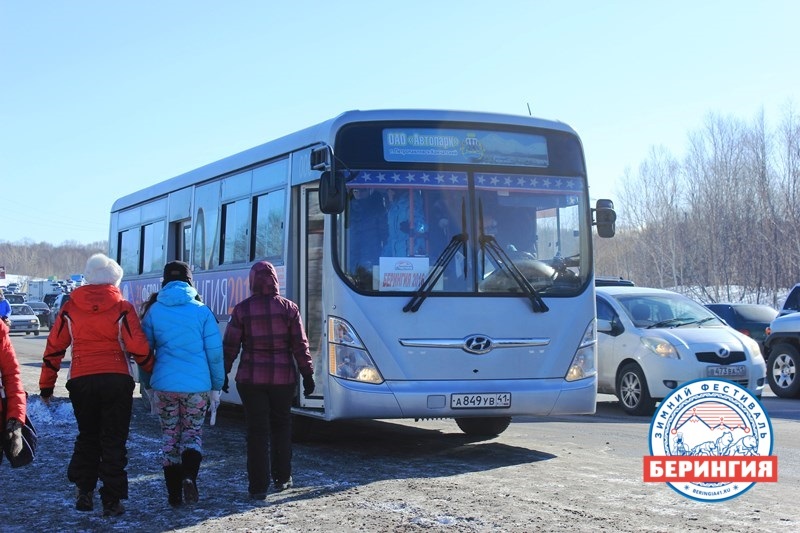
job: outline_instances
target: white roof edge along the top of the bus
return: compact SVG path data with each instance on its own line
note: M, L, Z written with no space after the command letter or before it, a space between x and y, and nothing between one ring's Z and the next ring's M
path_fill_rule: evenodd
M290 152L319 145L333 144L336 132L351 122L376 122L384 120L441 121L464 123L498 123L511 126L527 126L560 130L575 134L575 131L563 122L535 118L525 115L509 115L500 113L484 113L477 111L454 111L433 109L382 109L369 111L345 111L337 117L314 126L290 133L272 141L209 163L184 174L161 181L139 191L119 198L111 207L111 212L133 207L141 202L164 196L195 183L202 183L217 176L231 174L239 170Z

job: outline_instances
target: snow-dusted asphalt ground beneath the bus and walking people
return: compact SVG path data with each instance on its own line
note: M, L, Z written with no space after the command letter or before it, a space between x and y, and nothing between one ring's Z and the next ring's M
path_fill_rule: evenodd
M12 336L32 394L45 338ZM55 395L65 404L61 374ZM601 395L594 415L519 417L493 439L467 437L451 420L315 422L294 447L295 488L258 503L246 497L241 413L228 410L207 431L201 502L178 511L163 494L157 425L139 406L128 513L110 521L74 511L62 472L74 430L45 426L35 468L11 478L0 465L0 516L29 511L0 522L9 531L800 531L800 400L767 393L762 403L778 482L719 503L645 483L650 420Z

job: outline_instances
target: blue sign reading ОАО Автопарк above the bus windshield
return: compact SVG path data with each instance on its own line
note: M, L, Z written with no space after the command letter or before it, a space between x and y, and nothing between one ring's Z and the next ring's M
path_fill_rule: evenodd
M547 139L507 131L387 128L383 157L403 163L547 167Z

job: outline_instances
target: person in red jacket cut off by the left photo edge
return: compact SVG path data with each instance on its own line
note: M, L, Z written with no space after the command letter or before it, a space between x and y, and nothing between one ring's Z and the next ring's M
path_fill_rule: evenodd
M27 414L27 403L17 354L8 336L8 326L3 321L0 321L0 374L3 376L0 392L8 404L8 413L4 413L3 402L0 402L0 420L6 421L6 427L0 430L5 431L4 439L11 443L11 455L17 456L22 451L22 422ZM2 459L3 451L0 450L0 461Z

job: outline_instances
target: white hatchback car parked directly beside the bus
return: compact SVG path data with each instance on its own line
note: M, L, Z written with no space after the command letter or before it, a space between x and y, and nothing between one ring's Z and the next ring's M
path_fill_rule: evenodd
M761 397L758 343L676 292L597 287L597 390L631 415L651 415L682 383L722 378Z

